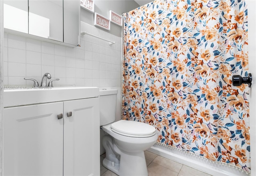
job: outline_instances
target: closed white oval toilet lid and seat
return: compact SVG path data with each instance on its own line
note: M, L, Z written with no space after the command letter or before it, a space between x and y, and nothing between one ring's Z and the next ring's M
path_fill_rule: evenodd
M119 120L111 124L112 131L125 136L149 137L156 133L156 129L142 122Z

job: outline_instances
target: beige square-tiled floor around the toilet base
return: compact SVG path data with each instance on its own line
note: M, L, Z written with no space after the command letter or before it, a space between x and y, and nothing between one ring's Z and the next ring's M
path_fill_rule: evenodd
M186 165L158 156L152 152L145 151L144 153L148 166L148 176L211 176ZM104 157L105 154L100 156L100 175L117 176L102 166Z

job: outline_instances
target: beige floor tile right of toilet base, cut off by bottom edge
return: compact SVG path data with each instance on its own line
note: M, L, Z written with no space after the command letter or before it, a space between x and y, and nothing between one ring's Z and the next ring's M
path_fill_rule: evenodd
M148 176L178 176L178 173L152 162L148 165Z

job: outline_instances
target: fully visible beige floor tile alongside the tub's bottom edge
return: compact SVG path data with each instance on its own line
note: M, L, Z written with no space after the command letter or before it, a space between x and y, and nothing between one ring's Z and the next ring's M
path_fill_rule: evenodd
M180 164L178 162L169 160L167 158L164 158L162 156L157 156L152 162L159 164L160 166L163 166L165 168L168 168L170 170L173 170L174 172L179 173L180 169L182 168L183 164Z

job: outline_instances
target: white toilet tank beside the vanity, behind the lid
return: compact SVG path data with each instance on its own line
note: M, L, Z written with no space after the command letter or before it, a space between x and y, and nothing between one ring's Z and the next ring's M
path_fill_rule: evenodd
M117 89L100 90L100 126L116 120Z

